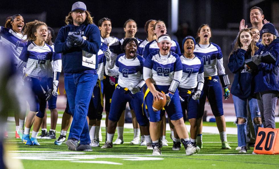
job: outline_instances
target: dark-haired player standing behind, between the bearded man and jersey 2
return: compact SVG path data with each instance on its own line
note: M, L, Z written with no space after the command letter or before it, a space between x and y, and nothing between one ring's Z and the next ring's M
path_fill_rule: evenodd
M121 43L117 37L110 36L110 32L112 29L111 20L109 18L102 18L98 21L98 26L101 34L101 42L105 43L108 46L108 49L110 50L111 54L111 61L107 62L111 65L114 65L115 60L117 56L122 53L120 50ZM116 77L114 76L107 76L104 74L104 97L105 97L105 111L106 111L106 139L107 139L107 126L108 126L108 114L110 112L110 104L111 104L111 98L112 93L115 89L116 84ZM98 119L100 118L100 115L98 115ZM100 126L100 120L97 120L97 129L96 129L96 137L97 133L99 133L99 127ZM117 129L118 131L120 129ZM97 138L96 138L97 139ZM122 129L122 140L123 140L123 129Z

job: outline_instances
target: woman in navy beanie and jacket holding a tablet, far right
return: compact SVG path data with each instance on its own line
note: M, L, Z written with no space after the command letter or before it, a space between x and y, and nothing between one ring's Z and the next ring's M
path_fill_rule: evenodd
M255 53L260 55L270 52L275 58L274 64L262 63L261 59L253 56L252 60L258 65L259 72L255 76L255 93L257 94L260 114L265 128L275 128L275 107L279 96L279 39L276 39L273 24L267 23L262 27L262 44Z

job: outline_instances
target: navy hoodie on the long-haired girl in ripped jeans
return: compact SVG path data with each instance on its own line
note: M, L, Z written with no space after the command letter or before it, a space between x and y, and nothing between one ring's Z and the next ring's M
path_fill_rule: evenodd
M251 59L251 50L237 49L229 57L228 67L234 73L231 93L241 99L247 99L254 93L254 76L255 73L248 73L245 68L245 60Z

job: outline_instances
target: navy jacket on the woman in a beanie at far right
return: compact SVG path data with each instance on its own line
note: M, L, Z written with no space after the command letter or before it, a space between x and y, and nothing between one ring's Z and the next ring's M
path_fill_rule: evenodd
M259 72L255 76L255 93L263 91L279 91L279 39L274 39L268 46L261 45L255 55L270 52L275 58L274 64L260 63Z

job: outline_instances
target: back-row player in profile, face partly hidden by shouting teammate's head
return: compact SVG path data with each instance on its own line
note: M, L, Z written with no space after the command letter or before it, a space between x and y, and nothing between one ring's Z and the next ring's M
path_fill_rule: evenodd
M147 34L147 37L144 41L139 43L139 49L137 50L137 53L141 56L143 56L143 51L144 51L144 48L147 45L147 43L156 39L156 34L153 32L153 27L156 22L157 22L157 20L153 20L153 19L145 22L144 30Z

